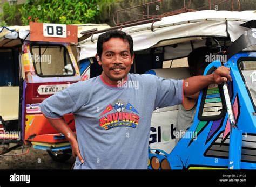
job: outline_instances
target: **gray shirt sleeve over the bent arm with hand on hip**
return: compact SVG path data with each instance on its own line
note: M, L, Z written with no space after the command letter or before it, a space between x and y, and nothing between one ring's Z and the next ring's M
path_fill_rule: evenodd
M72 85L67 89L48 97L39 105L44 116L50 119L60 119L65 114L74 113L78 110L77 105L69 92L69 89L72 89L73 87Z

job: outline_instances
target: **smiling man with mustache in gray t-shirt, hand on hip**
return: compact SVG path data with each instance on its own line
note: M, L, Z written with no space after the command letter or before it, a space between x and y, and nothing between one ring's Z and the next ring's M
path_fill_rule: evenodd
M186 80L130 74L133 41L122 31L99 36L96 59L102 75L72 84L40 105L52 126L70 141L76 157L74 169L147 169L151 117L156 107L181 104L183 95L231 80L225 67L214 75ZM130 82L137 82L138 87L128 87ZM77 137L62 117L67 113L74 114Z

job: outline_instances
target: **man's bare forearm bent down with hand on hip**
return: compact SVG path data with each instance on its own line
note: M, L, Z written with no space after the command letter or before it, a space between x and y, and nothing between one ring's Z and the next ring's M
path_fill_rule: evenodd
M69 140L71 147L72 147L72 154L76 158L76 155L78 156L79 160L81 163L84 163L84 159L80 154L79 147L78 147L78 142L76 139L76 135L72 132L71 128L66 124L66 121L64 118L60 119L50 119L47 118L50 124L56 128L56 130L60 133L62 133L66 139Z

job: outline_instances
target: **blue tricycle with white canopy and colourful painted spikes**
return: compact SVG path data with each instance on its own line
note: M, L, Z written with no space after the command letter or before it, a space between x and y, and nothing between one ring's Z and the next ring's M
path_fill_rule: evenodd
M226 87L210 85L201 90L194 122L177 146L178 106L154 111L149 169L256 169L254 19L254 11L204 10L112 28L122 29L133 38L135 59L130 73L190 77L186 57L203 46L215 52L208 56L212 63L204 75L221 65L231 69L233 81L228 81ZM89 66L90 78L102 72L94 57L101 33L85 32L91 37L77 45L78 63ZM83 74L84 69L80 72Z

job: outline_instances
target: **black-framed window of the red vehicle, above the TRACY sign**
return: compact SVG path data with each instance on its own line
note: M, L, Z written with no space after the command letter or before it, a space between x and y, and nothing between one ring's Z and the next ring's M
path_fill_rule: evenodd
M75 69L63 45L31 45L31 55L38 76L73 76Z

